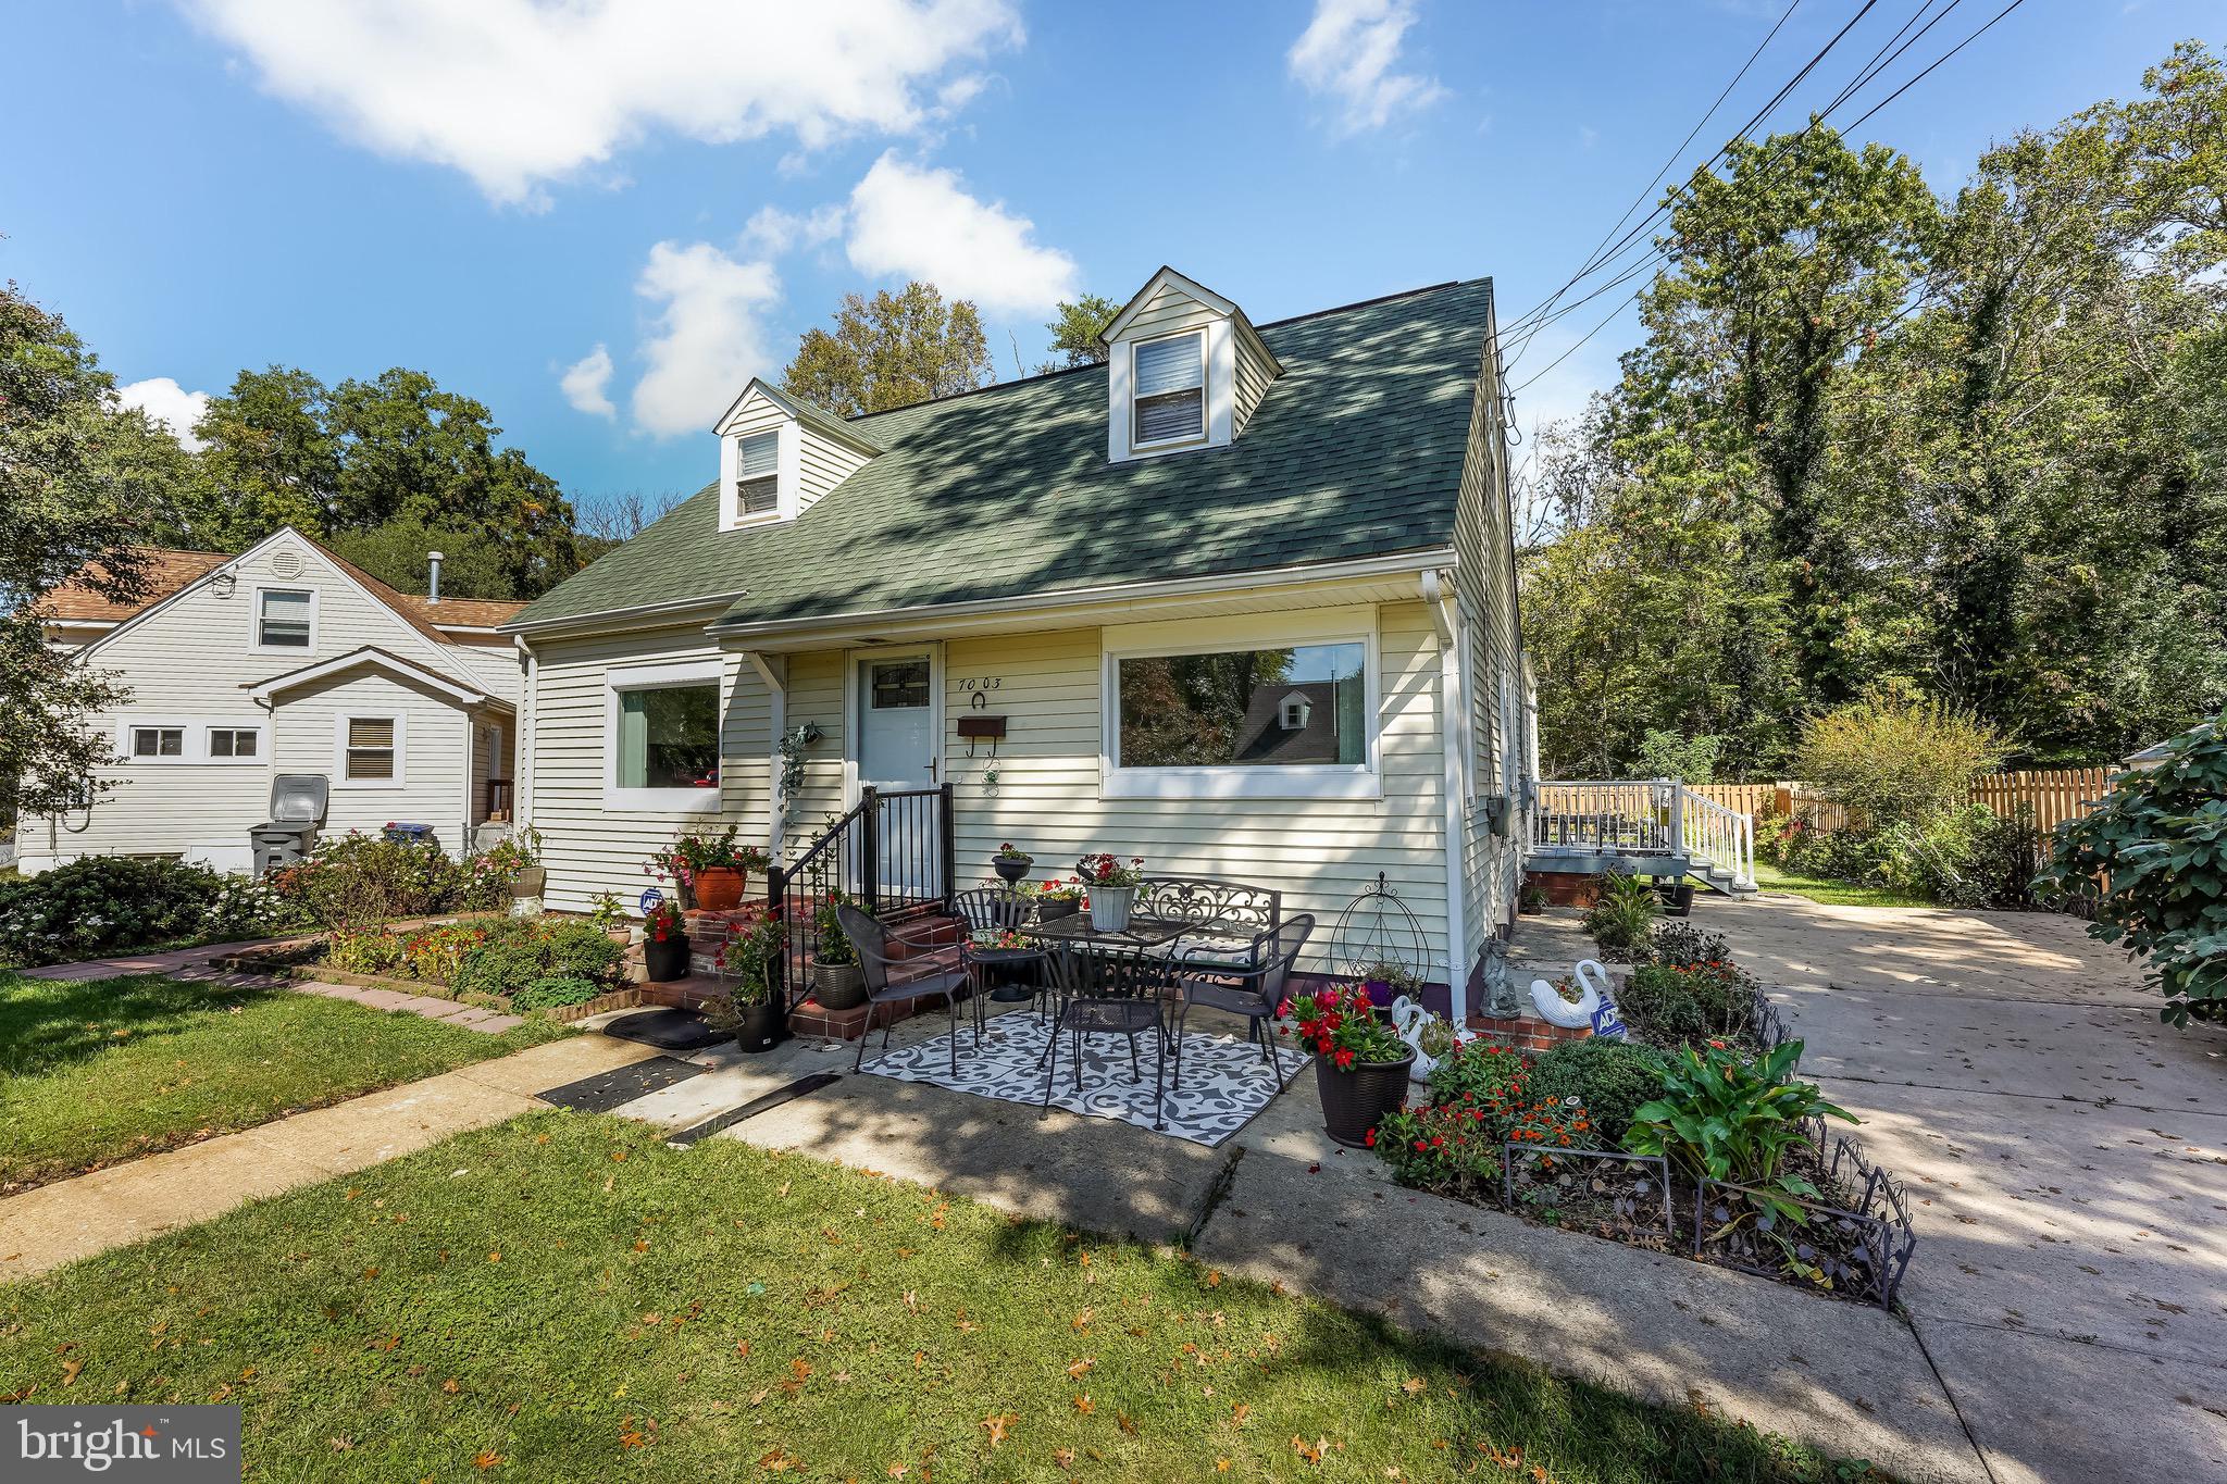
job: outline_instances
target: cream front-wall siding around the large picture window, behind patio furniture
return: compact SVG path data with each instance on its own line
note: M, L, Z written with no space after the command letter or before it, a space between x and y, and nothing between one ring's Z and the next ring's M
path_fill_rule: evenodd
M944 770L953 783L958 886L993 879L991 852L1013 841L1036 854L1031 879L1073 870L1089 850L1142 854L1162 877L1225 877L1278 886L1285 912L1314 912L1305 966L1334 968L1338 914L1383 872L1445 975L1445 848L1434 712L1436 643L1421 603L1379 607L1383 799L1100 799L1102 630L1051 630L944 645ZM1007 716L1000 788L989 794L989 745L967 756L958 719L969 676L998 676L984 712Z

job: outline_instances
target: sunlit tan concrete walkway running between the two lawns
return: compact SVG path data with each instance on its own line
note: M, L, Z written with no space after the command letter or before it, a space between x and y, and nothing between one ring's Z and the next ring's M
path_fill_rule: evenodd
M630 1041L566 1037L11 1195L0 1199L0 1284L501 1124L543 1108L534 1092L655 1055Z

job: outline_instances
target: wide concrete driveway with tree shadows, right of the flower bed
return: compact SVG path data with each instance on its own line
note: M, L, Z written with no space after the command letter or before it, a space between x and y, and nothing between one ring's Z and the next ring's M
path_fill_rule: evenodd
M1995 1480L2227 1480L2227 1028L2069 917L1695 914L1917 1201L1902 1295Z

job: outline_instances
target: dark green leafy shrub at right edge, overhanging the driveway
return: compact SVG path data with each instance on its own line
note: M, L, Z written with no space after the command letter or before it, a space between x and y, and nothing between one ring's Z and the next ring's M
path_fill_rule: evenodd
M2091 910L2089 934L2149 961L2165 1021L2227 1017L2227 714L2058 825L2040 886Z

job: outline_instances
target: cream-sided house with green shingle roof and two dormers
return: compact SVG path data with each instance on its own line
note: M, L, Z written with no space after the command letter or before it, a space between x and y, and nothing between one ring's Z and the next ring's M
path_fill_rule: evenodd
M1140 854L1283 888L1330 970L1381 877L1468 986L1532 756L1492 314L1254 327L1160 269L1105 365L848 421L753 380L717 481L506 625L552 906L632 901L679 830L795 861L862 785L949 783L962 888L1002 841Z

